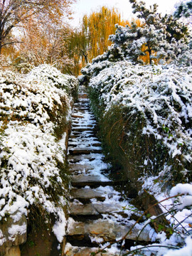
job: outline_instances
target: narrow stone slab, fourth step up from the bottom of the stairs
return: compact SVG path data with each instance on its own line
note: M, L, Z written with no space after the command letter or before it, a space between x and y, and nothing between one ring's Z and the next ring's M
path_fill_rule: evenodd
M72 198L77 199L92 199L97 198L100 200L105 200L105 195L103 192L95 191L95 189L92 188L73 188L70 191L70 195Z

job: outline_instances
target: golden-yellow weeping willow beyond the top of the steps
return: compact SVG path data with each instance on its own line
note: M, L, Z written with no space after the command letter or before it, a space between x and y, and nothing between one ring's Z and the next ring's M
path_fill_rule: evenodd
M93 11L90 16L83 16L79 30L71 34L69 51L75 62L73 73L79 74L80 68L107 50L112 43L109 36L115 32L115 24L125 26L117 9L103 6L100 11Z

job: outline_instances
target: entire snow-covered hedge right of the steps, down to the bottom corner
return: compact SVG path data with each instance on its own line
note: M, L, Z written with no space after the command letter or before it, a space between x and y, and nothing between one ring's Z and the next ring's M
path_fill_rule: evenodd
M192 68L186 64L133 65L104 54L82 70L107 156L122 164L140 196L143 189L161 201L170 223L159 225L155 243L127 255L191 255Z

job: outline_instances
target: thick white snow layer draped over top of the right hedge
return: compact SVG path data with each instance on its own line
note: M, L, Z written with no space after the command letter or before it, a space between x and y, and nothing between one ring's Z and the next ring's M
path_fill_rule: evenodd
M83 74L91 75L89 87L99 95L99 107L104 107L107 113L119 105L129 110L129 117L139 114L144 119L142 134L159 140L170 158L179 156L191 163L191 67L141 66L119 60L100 70L101 63L106 61L98 56L97 61L82 70ZM185 161L182 166L186 170L183 175L187 174L190 170Z

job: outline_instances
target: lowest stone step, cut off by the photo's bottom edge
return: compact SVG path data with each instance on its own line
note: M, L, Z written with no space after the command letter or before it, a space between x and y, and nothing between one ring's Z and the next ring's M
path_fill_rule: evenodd
M98 250L99 248L97 247L78 247L67 243L64 254L65 256L90 256L93 255L93 252L97 253ZM109 252L109 250L106 249L105 252L97 253L97 256L119 256L120 253L120 250L117 250L117 252Z

